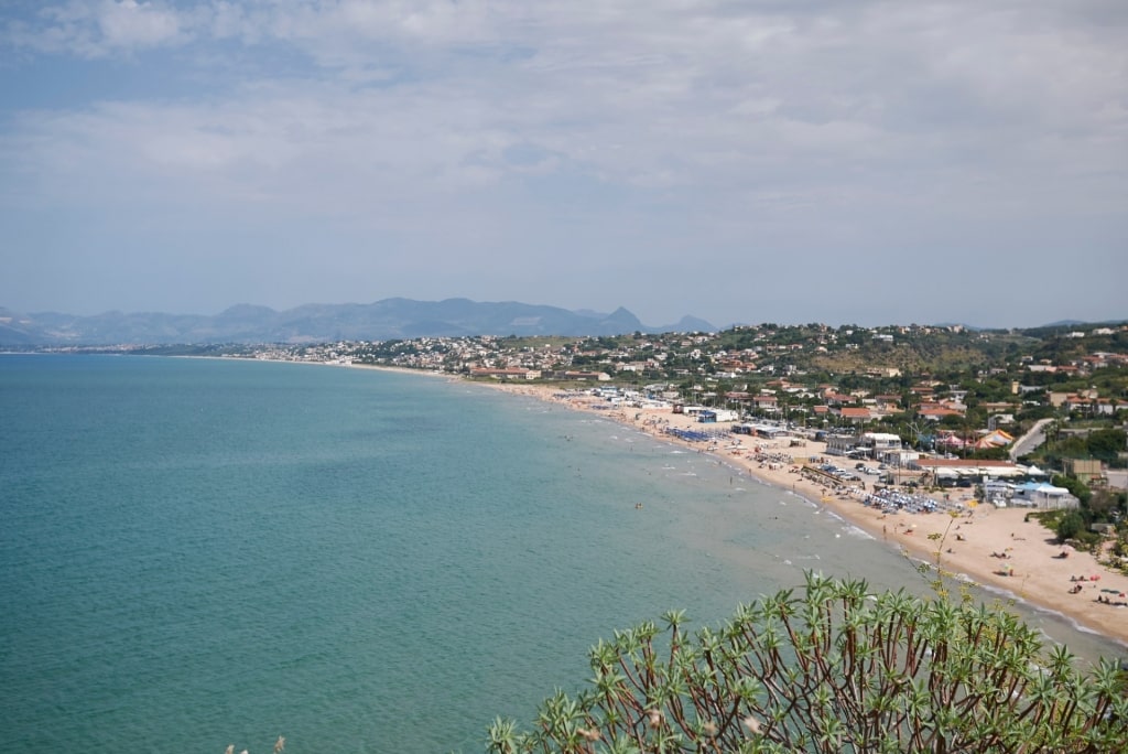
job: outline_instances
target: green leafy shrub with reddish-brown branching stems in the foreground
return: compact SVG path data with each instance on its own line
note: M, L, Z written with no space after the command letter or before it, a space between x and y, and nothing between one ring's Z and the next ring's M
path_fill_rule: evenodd
M720 629L685 615L591 650L591 687L557 692L531 730L495 720L488 749L527 752L1116 752L1126 681L1005 611L871 595L808 575Z

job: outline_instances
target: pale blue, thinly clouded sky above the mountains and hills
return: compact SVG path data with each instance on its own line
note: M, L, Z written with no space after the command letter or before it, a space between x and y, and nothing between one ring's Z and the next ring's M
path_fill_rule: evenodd
M0 307L1128 319L1123 0L0 0Z

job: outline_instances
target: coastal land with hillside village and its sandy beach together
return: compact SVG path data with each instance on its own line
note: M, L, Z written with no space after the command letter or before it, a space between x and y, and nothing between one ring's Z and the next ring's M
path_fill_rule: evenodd
M1128 324L761 324L185 354L418 370L596 412L1128 642Z

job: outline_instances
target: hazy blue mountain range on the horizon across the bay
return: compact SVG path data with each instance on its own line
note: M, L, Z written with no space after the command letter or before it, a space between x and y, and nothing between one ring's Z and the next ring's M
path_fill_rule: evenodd
M517 301L465 298L416 301L389 298L372 304L306 304L284 312L240 304L214 315L106 312L77 316L53 312L20 314L0 307L0 347L139 345L174 343L324 343L459 335L599 336L625 333L715 332L704 319L685 316L647 326L619 307L610 314L569 310Z

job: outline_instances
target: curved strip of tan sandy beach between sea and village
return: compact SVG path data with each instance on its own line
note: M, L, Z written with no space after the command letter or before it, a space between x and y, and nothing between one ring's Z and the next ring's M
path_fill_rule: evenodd
M579 394L563 397L564 393L548 386L496 386L578 411L598 412L695 449L702 449L704 444L680 440L667 429L723 431L726 428L726 424L702 424L691 417L669 410L607 410L607 403L600 398ZM600 404L602 407L597 409ZM738 437L739 445L734 441ZM787 440L764 441L735 435L732 438L733 441L711 446L708 451L766 482L827 506L888 546L906 551L918 560L938 563L945 572L1057 611L1091 631L1128 645L1128 576L1100 566L1089 553L1058 545L1054 534L1041 524L1026 520L1029 509L975 505L970 494L963 494L966 509L960 514L887 515L880 508L863 505L860 491L836 490L799 472L812 457L825 455L821 442L808 441L804 446L791 447ZM831 458L831 462L844 463L840 458ZM871 486L870 480L866 485ZM1063 556L1063 553L1066 554Z

